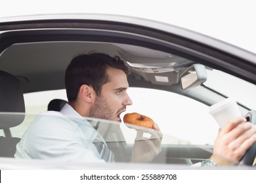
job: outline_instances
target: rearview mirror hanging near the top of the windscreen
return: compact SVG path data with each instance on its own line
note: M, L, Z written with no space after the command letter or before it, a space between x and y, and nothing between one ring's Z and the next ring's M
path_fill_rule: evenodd
M180 78L182 90L199 86L207 80L205 66L201 64L191 65L181 74Z

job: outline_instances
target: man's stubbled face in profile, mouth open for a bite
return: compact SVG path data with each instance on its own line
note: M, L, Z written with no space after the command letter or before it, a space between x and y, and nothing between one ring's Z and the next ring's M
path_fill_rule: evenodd
M120 114L132 105L127 89L127 76L119 69L108 67L109 82L102 86L100 96L95 97L95 103L89 111L89 116L105 120L121 122Z

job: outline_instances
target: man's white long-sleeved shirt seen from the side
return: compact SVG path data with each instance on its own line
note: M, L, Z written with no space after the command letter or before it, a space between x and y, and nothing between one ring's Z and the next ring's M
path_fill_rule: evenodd
M98 135L74 108L41 112L16 146L15 158L105 162L93 144Z

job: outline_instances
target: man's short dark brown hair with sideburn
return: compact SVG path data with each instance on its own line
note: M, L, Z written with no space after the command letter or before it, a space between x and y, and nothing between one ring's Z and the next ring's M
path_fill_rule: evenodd
M119 57L111 57L102 53L81 54L70 62L66 69L65 85L68 101L77 99L79 88L83 84L92 86L96 95L100 95L103 84L109 81L107 67L121 69L129 75L129 68Z

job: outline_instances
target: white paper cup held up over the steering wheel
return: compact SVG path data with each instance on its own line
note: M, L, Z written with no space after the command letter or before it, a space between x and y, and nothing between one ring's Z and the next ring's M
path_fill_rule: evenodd
M209 112L215 118L221 128L224 127L230 118L242 117L238 104L234 99L227 98L209 107Z

